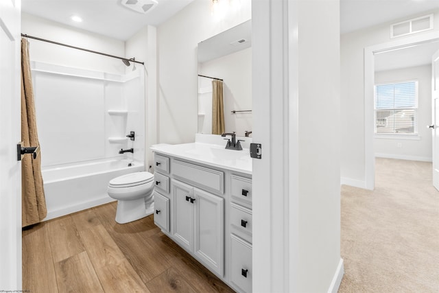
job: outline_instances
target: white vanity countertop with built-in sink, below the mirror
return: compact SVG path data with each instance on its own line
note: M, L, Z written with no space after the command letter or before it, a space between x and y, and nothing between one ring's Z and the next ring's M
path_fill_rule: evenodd
M248 148L226 150L221 145L195 142L178 145L152 145L151 150L196 163L252 174L252 159Z

